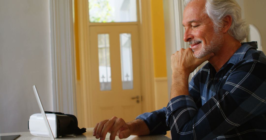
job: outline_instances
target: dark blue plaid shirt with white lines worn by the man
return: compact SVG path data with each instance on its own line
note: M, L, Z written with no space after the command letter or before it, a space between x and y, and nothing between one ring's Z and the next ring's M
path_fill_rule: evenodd
M266 139L266 56L256 42L242 43L216 72L207 63L189 82L189 95L144 113L150 134L172 139Z

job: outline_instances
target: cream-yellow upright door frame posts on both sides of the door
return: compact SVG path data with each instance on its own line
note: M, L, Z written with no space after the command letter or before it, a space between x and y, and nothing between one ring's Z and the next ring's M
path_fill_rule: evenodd
M141 73L141 95L142 113L155 110L154 104L154 70L152 51L152 29L151 29L151 0L137 0L139 3L139 41L140 41L140 73ZM89 13L88 1L74 0L77 5L75 16L77 16L77 39L80 63L80 80L76 80L77 116L82 127L93 127L92 118L92 94L90 92L90 59L86 54L89 52ZM112 23L110 23L112 24ZM149 53L147 53L149 52ZM89 99L89 100L87 100Z

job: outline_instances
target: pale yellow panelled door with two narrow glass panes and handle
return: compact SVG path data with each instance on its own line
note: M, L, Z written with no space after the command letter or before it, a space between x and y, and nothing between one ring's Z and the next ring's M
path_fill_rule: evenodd
M137 25L90 26L92 124L141 114Z

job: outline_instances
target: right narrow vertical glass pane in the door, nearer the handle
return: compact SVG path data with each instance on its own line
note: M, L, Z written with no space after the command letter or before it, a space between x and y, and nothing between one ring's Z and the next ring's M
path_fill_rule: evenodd
M131 34L120 34L120 60L122 88L133 89Z

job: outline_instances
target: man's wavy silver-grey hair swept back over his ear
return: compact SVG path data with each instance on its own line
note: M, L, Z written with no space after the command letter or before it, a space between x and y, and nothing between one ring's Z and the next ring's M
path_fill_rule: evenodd
M194 0L184 0L186 6ZM205 0L205 12L214 23L215 31L222 28L223 18L232 17L232 24L228 33L238 41L243 41L249 32L246 21L241 19L241 8L234 0Z

